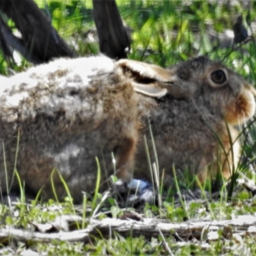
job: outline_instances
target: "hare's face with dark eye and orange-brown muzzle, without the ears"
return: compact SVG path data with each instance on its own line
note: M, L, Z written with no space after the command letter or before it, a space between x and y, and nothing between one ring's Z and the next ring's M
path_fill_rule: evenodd
M240 124L255 112L256 90L218 61L201 56L171 68L176 83L190 88L195 103L220 114L228 124Z

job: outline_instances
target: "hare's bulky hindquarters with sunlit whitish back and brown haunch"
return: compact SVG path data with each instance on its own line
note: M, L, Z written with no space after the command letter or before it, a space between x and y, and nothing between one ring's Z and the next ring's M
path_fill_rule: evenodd
M93 191L95 157L101 163L101 179L106 180L113 174L111 152L116 155L117 175L131 179L138 138L137 101L114 61L106 57L56 60L11 77L5 86L10 89L0 99L3 191L3 156L10 180L18 131L20 178L32 191L44 188L45 197L52 196L54 168L75 200L81 198L81 191ZM53 179L58 195L64 195L57 172Z

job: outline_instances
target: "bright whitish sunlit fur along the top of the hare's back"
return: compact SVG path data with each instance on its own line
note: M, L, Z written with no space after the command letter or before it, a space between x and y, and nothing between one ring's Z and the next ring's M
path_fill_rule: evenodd
M115 69L115 61L106 56L61 58L12 77L0 77L2 117L8 122L15 121L20 108L30 116L35 116L36 111L54 115L56 111L65 110L70 116L75 110L86 111L90 108L88 101L79 100L72 93L88 87L98 72L109 73Z

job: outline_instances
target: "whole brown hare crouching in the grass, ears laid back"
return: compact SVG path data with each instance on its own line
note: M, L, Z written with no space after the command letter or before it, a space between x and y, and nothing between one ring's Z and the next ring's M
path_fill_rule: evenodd
M171 184L173 167L201 180L218 167L228 178L240 156L237 125L255 112L255 89L206 57L164 69L105 56L60 59L1 79L0 182L75 202L108 177L151 180L152 163ZM228 130L231 135L228 135ZM152 132L152 135L151 135ZM154 140L157 158L154 147ZM232 150L231 150L232 148ZM99 166L96 158L99 159Z

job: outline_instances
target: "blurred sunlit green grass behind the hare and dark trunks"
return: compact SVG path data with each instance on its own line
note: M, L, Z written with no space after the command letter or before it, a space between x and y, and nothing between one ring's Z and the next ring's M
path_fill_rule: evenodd
M99 52L92 0L35 2L80 56ZM255 81L254 40L237 51L232 49L232 28L239 15L243 15L249 34L256 27L255 2L116 0L116 3L132 39L129 58L168 66L207 54ZM0 71L5 73L6 66L1 62ZM24 62L21 61L22 65Z

